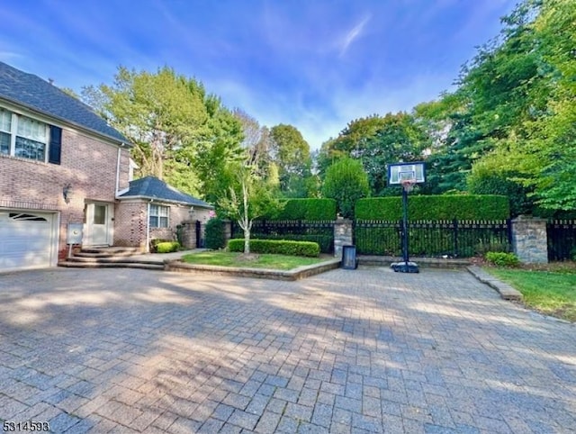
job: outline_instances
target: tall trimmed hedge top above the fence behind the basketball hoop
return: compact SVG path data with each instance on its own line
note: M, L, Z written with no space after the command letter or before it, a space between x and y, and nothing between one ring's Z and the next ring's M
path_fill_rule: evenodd
M496 194L414 195L408 200L410 220L506 220L509 216L508 197ZM401 197L371 197L356 202L356 220L401 218Z

